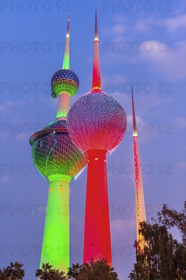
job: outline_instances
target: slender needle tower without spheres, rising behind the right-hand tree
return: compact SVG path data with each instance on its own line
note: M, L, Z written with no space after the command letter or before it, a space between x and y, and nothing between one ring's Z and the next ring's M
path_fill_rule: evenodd
M136 230L137 230L137 240L141 239L139 234L140 222L146 221L146 212L145 212L145 201L143 194L143 182L141 174L141 165L140 165L140 153L138 146L138 134L136 129L136 116L134 109L134 97L133 97L133 86L132 88L132 109L133 109L133 143L134 143L134 166L135 166L135 197L136 197ZM143 244L139 243L139 248L143 248Z

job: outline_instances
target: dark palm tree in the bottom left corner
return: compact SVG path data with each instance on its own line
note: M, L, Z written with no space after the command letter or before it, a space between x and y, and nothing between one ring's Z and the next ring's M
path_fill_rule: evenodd
M24 270L21 268L22 266L23 264L19 262L15 262L15 264L10 262L10 265L3 269L4 279L22 280L25 275Z

